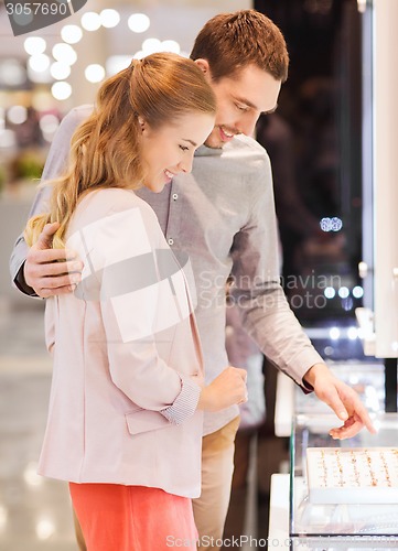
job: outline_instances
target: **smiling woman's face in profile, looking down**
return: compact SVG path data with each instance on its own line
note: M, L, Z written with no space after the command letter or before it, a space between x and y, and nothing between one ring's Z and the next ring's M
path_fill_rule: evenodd
M195 150L213 130L214 117L192 112L173 123L152 129L139 118L142 129L142 160L147 169L143 184L160 193L175 174L191 172Z

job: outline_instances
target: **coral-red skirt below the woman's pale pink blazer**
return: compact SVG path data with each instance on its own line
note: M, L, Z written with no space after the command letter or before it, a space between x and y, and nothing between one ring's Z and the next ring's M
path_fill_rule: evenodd
M159 488L69 483L87 551L196 550L191 499Z

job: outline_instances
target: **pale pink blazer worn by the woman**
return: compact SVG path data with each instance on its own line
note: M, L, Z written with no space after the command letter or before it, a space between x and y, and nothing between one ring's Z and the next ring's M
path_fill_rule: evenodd
M54 358L39 473L197 497L203 361L181 269L151 207L92 192L68 227L84 261L74 294L47 300Z

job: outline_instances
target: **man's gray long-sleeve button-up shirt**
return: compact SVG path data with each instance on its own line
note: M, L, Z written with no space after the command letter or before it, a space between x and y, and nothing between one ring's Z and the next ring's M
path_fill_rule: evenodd
M65 165L71 138L92 106L73 109L52 143L43 181ZM31 215L45 212L51 187L42 187ZM243 323L263 354L303 387L305 371L322 358L289 307L279 283L277 220L272 174L267 152L251 138L235 137L224 149L201 147L192 174L179 175L160 194L142 188L138 195L158 215L178 258L191 259L203 346L206 381L228 364L225 350L226 280L233 274L232 295ZM22 284L26 245L20 236L11 257L11 276ZM24 290L26 292L26 290ZM238 414L232 407L205 415L204 433L212 433Z

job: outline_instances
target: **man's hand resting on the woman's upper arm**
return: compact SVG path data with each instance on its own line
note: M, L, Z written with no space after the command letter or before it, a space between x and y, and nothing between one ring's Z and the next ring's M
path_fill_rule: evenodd
M83 262L74 251L52 249L57 223L46 224L31 247L24 267L25 282L42 299L74 291L82 279Z

